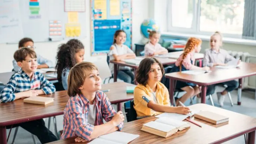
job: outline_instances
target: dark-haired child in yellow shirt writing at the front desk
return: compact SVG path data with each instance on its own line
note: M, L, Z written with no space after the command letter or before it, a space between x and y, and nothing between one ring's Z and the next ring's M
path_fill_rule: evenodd
M136 81L139 84L134 89L134 109L137 118L153 116L161 112L180 114L190 112L188 107L170 105L169 92L160 82L164 75L164 67L157 59L143 59L136 73Z

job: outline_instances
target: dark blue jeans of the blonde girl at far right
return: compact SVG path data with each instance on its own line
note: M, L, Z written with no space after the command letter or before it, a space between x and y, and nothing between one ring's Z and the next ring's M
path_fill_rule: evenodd
M226 82L219 83L219 84L227 85L228 87L225 90L228 91L228 92L231 92L231 91L237 89L238 86L239 86L239 83L235 80L226 81ZM216 85L219 85L219 84L209 85L207 87L206 96L209 96L210 94L213 94L215 92Z

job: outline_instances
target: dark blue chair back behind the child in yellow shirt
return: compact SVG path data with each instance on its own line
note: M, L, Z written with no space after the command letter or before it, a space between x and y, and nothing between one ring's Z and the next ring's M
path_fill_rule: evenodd
M134 100L129 100L128 102L124 103L124 111L127 112L126 114L127 122L131 122L137 119L137 113L133 106L134 106Z

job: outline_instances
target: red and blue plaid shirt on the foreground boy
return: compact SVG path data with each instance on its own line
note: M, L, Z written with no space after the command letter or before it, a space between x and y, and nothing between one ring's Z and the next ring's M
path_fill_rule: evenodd
M109 99L101 91L96 92L94 104L96 104L96 119L94 125L103 124L103 118L106 122L109 122L113 117L107 117L116 114L116 111L111 106ZM79 94L69 99L68 104L64 109L64 127L60 139L79 136L85 140L91 140L90 136L94 130L94 125L88 123L87 117L89 113L89 105L89 100ZM117 127L121 131L123 128L123 122Z

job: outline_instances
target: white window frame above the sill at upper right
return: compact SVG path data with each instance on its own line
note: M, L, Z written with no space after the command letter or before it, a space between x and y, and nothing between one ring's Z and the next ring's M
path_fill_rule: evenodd
M167 0L167 31L186 34L212 35L213 32L200 31L201 0L193 0L193 20L191 28L172 26L172 1ZM221 32L221 31L220 31ZM223 37L242 39L242 34L222 33Z

